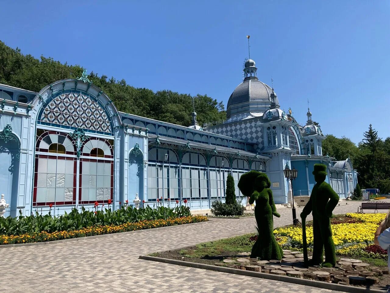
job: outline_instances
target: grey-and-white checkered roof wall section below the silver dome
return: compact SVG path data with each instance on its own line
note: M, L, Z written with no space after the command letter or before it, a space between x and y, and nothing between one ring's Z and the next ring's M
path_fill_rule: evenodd
M262 131L260 127L256 126L259 122L259 119L251 119L248 121L237 121L236 123L219 124L206 129L206 131L255 143L259 148L262 148Z

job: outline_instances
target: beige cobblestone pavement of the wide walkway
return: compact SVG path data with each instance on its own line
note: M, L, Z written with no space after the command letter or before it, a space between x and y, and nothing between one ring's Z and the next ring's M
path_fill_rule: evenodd
M344 203L344 202L342 202ZM356 211L356 203L335 213ZM302 208L297 209L299 215ZM280 208L275 226L292 221ZM141 254L253 232L255 219L214 219L207 223L112 234L42 246L0 250L0 292L332 292L285 282L200 270L138 259Z

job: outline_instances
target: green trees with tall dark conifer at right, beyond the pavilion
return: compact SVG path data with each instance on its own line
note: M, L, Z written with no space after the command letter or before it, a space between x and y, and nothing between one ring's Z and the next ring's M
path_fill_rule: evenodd
M328 134L322 147L324 154L336 160L351 159L362 188L378 188L381 193L390 193L390 137L379 138L371 124L357 146L345 136L336 138Z

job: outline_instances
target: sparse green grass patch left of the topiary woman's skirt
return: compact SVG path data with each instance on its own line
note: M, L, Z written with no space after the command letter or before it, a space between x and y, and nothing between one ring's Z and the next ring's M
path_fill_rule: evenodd
M246 234L244 236L236 236L216 241L199 243L194 249L183 249L180 254L184 257L204 257L221 255L224 252L250 252L253 242L248 236L255 235Z

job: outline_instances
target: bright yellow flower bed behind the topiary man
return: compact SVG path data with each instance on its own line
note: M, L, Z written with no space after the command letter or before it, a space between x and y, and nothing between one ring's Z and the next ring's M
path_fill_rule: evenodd
M374 233L386 214L348 213L332 219L332 238L337 255L385 259L387 252L373 244ZM274 230L278 243L284 248L302 249L302 228L285 227ZM306 227L308 249L313 247L313 227Z

